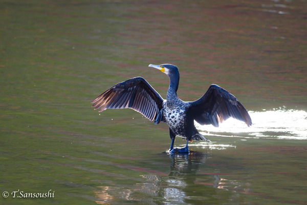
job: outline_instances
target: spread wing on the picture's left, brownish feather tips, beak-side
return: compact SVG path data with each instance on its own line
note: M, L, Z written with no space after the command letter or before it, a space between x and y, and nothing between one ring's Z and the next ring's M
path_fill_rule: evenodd
M163 98L142 77L135 77L116 84L92 101L92 107L99 109L130 108L143 114L155 124L164 121L162 114Z

